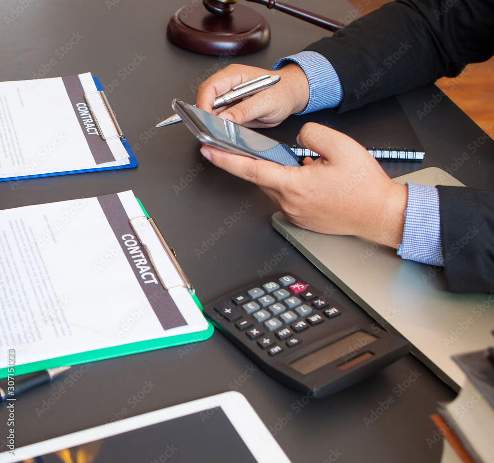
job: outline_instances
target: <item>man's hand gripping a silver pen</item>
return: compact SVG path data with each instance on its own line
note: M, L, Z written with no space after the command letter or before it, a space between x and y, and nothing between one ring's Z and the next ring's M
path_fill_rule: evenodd
M228 109L212 110L216 97L265 74L278 74L278 83L262 90ZM196 105L246 127L273 127L290 114L302 111L309 101L309 82L302 68L289 63L278 71L267 71L240 64L232 64L213 74L199 86Z

